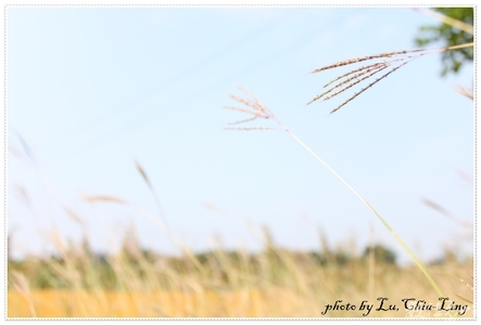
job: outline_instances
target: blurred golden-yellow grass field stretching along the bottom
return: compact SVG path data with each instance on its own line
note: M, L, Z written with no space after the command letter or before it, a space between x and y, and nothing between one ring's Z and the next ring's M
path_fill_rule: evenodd
M9 317L365 317L363 300L375 308L367 317L472 317L472 259L446 251L428 265L456 304L446 311L406 310L402 299L435 306L436 292L416 266L400 266L382 246L355 255L331 249L291 251L274 244L268 229L258 253L216 249L166 257L144 250L129 237L122 250L100 256L85 240L49 258L9 261ZM376 311L378 297L397 311ZM354 311L330 311L336 300ZM342 304L341 303L341 304Z

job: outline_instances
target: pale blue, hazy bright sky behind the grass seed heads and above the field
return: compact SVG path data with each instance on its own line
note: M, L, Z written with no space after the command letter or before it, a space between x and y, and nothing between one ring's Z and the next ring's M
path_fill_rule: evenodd
M312 70L416 48L419 27L438 24L431 17L408 8L12 6L7 21L13 256L83 235L112 252L132 227L144 248L179 253L167 224L194 251L258 250L267 226L294 250L319 249L321 231L333 248L376 242L407 261L379 219L288 133L225 129L249 117L223 108L237 104L229 94L245 98L238 84L419 258L472 252L473 103L455 91L472 87L472 65L441 78L433 53L334 114L360 88L306 105L353 68ZM276 127L239 125L250 126Z

